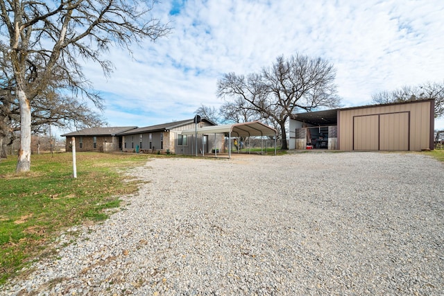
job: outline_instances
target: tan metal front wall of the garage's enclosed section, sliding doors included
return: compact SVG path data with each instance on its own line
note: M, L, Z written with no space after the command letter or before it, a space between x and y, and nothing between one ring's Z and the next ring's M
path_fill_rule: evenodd
M433 132L431 130L431 116L433 116L430 111L431 104L433 105L433 101L417 101L340 110L339 148L341 150L405 150L406 139L409 150L431 148L429 144L430 134ZM375 123L376 119L378 124ZM366 137L364 133L370 137L371 141L364 139ZM375 133L378 137L375 137ZM375 147L373 141L378 142L378 148Z

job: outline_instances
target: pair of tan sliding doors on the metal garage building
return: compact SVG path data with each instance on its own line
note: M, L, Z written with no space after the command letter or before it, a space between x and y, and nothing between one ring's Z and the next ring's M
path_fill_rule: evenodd
M409 150L409 112L355 116L353 150Z

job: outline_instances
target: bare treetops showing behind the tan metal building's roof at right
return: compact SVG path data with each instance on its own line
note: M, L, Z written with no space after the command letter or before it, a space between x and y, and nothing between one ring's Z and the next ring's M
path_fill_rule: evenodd
M444 82L425 82L417 86L405 86L393 92L373 94L372 101L377 104L401 103L417 100L435 100L435 118L444 116Z

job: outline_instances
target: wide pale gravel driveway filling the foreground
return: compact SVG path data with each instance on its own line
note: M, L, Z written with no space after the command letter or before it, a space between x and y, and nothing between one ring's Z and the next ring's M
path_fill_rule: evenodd
M443 295L444 165L425 155L159 158L130 175L150 182L0 295Z

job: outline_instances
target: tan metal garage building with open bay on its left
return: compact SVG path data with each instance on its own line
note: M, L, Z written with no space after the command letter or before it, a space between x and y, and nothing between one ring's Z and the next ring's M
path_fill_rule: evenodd
M293 114L290 131L291 149L433 149L434 100Z

